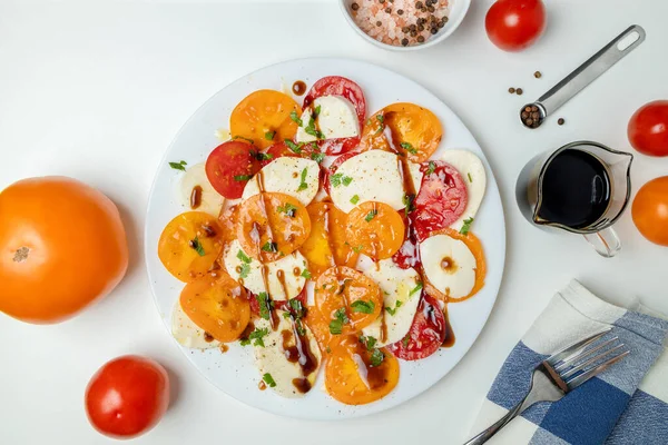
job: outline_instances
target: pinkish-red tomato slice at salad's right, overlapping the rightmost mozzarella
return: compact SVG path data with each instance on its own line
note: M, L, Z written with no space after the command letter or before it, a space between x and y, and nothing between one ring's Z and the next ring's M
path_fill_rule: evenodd
M424 162L420 170L424 176L411 212L419 241L456 221L468 202L466 185L450 164L432 160Z

